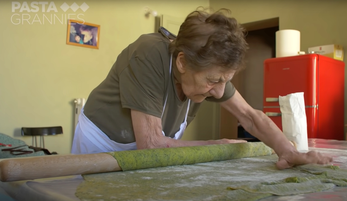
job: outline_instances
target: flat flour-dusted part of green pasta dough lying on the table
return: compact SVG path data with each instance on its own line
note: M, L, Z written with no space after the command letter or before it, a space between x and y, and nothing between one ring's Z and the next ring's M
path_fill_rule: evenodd
M302 185L298 188L306 188L305 192L317 192L342 186L347 177L346 170L337 166L305 165L278 170L277 160L277 155L272 154L83 175L76 196L81 201L257 201L280 194L275 192L276 187L280 190L280 185L275 184L297 184ZM275 188L269 191L263 187L266 185ZM249 191L238 189L241 186ZM291 189L285 194L297 193Z

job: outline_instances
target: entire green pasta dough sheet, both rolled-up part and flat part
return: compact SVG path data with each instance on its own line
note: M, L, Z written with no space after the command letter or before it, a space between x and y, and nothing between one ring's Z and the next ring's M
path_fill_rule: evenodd
M81 201L258 201L347 185L338 166L278 170L278 156L263 143L110 154L124 171L83 175L75 193Z

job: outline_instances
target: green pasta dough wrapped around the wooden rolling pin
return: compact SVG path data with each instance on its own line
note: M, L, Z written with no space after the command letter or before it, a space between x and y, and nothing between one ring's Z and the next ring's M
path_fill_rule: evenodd
M267 156L272 149L263 142L246 142L107 153L118 161L123 171L127 171Z

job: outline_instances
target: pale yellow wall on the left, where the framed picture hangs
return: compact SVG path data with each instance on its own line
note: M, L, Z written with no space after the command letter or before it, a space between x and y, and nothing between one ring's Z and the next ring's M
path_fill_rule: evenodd
M27 1L30 5L31 1ZM90 7L86 12L62 11L66 2ZM64 134L45 137L49 151L69 153L73 138L75 98L87 98L109 72L122 49L139 35L154 31L154 17L144 16L149 6L158 14L185 17L208 0L147 1L54 1L58 12L11 12L11 1L0 2L0 133L31 145L31 137L20 136L20 127L63 127ZM46 7L47 9L47 7ZM83 14L86 22L101 25L100 49L66 44L67 25L56 23L12 24L13 14ZM76 18L77 15L70 15ZM21 17L21 16L20 16ZM27 17L27 15L24 15ZM16 16L13 20L17 23ZM36 18L37 20L38 18Z

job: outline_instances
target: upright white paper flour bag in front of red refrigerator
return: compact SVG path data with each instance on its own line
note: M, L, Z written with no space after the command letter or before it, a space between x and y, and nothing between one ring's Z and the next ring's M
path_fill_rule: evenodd
M297 144L298 151L308 151L304 92L279 96L283 134Z

